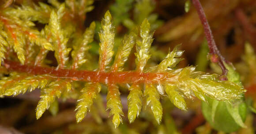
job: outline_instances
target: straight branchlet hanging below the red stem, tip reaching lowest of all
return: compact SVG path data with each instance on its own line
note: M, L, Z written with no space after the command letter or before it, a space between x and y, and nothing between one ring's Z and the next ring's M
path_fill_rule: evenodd
M116 85L109 85L106 99L107 109L110 109L109 116L113 115L112 122L116 128L122 122L121 115L124 115L122 111L123 106L120 99L120 92Z

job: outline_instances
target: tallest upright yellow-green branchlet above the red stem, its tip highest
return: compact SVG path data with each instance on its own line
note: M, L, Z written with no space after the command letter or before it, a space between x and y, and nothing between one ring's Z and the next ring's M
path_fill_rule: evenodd
M114 54L114 37L115 31L112 24L112 16L109 11L105 13L104 18L102 19L102 30L99 33L100 37L100 48L99 48L99 69L104 71L105 67L109 65Z

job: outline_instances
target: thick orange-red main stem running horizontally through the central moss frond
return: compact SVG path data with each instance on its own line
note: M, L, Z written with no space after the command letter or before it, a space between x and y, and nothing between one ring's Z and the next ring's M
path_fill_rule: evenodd
M164 73L139 73L137 71L105 72L105 71L78 71L58 69L51 67L39 67L22 65L11 60L4 60L4 67L9 71L26 72L28 74L49 74L56 78L69 78L77 81L100 82L102 84L126 84L126 83L158 83L173 82L177 79L174 74Z

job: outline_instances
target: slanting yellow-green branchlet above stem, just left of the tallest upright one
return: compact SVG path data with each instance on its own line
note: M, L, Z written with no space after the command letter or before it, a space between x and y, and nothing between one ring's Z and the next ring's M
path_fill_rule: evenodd
M72 58L73 58L73 68L76 69L81 66L83 63L86 62L85 59L85 52L90 49L88 45L93 41L94 37L94 30L95 30L95 22L92 22L87 28L87 30L83 34L83 41L79 43L79 45L74 46L74 50L72 51Z

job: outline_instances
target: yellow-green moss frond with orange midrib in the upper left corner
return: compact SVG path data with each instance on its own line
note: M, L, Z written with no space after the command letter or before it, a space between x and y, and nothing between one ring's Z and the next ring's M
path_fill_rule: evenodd
M25 44L29 42L31 45L36 44L46 49L53 50L52 45L45 38L41 37L40 32L33 29L35 24L31 22L30 19L35 19L26 14L29 11L25 10L31 9L28 8L29 7L26 6L17 9L10 7L1 11L3 16L0 22L0 59L4 59L2 53L5 51L5 47L11 47L17 53L20 62L24 63L26 60L24 47ZM34 12L34 14L36 13Z

